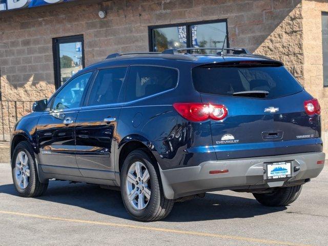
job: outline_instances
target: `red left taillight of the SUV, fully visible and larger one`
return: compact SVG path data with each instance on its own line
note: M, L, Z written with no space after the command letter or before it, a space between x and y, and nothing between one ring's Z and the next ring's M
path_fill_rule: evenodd
M190 121L221 120L228 115L228 110L224 105L175 103L173 107L183 118Z

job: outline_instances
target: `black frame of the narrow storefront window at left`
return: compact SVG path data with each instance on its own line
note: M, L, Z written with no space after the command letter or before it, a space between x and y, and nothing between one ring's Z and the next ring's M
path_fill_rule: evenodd
M85 52L84 52L84 35L73 35L65 37L54 37L52 38L52 54L53 54L53 68L55 75L55 89L57 90L60 84L60 54L59 54L59 45L81 42L82 48L82 67L85 68Z

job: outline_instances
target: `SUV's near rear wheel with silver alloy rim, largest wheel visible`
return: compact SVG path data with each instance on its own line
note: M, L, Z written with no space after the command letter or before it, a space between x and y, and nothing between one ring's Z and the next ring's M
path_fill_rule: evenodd
M143 149L132 151L122 165L122 200L128 213L140 221L163 219L173 208L174 200L163 194L156 165Z

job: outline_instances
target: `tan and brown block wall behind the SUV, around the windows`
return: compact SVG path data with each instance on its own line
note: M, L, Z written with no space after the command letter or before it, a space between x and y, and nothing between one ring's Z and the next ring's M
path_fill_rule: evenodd
M282 60L304 77L301 0L117 0L59 4L0 17L4 99L40 99L54 91L52 38L84 34L86 65L108 54L148 50L148 26L228 18L231 46ZM106 9L100 19L98 10ZM13 16L13 13L15 16ZM0 129L1 131L1 129Z

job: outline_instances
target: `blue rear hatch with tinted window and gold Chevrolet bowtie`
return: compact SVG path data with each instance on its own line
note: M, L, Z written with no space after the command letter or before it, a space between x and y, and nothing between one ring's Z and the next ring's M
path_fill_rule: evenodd
M217 159L320 151L319 116L309 116L312 96L280 63L244 61L192 70L202 103L224 105L228 115L211 120Z

